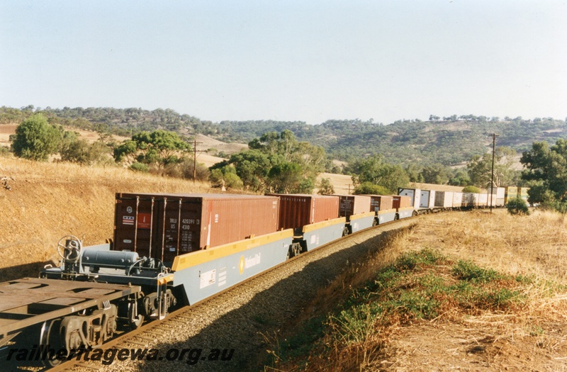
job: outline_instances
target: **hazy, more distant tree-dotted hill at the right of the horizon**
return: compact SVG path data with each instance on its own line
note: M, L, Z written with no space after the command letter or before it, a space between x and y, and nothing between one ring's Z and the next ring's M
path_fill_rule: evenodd
M268 131L289 129L299 140L320 145L331 157L346 162L378 153L387 162L420 165L467 162L474 155L490 151L493 133L499 135L497 146L509 146L520 153L529 150L534 141L554 143L558 138L567 137L565 121L553 118L399 120L391 125L361 120L327 120L320 125L270 121L220 125L228 125L229 133L245 134L246 139Z

